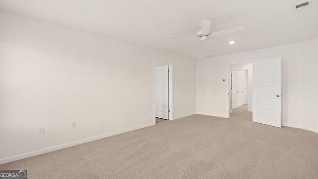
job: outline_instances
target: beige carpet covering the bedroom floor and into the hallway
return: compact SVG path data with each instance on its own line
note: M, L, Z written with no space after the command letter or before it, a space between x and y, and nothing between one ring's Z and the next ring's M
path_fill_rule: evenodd
M318 134L192 115L0 165L28 179L318 179Z

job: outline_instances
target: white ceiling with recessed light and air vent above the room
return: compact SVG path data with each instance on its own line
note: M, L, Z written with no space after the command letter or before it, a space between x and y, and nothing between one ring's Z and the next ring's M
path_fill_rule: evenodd
M221 56L306 41L318 37L318 0L0 0L0 9L54 22L137 45L199 59L195 39L202 20L212 32L237 26L244 31L204 41L204 57ZM235 44L228 44L229 41Z

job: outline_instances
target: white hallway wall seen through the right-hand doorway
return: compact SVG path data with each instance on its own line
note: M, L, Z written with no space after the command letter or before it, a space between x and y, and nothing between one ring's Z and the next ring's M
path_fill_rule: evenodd
M230 64L229 65L229 89L231 89L231 71L238 71L238 70L247 70L247 103L248 111L252 111L253 105L253 63L237 63L237 64ZM231 103L230 99L230 103Z

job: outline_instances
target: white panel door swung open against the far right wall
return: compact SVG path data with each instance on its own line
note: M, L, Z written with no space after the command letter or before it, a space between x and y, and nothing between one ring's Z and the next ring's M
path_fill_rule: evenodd
M253 122L282 127L281 58L253 62Z

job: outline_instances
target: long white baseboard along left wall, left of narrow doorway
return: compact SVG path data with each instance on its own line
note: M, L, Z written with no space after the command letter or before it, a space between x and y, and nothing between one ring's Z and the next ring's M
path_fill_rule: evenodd
M25 158L28 158L28 157L33 157L33 156L36 156L36 155L40 155L40 154L44 154L44 153L48 153L48 152L52 152L52 151L56 151L56 150L60 150L60 149L64 149L64 148L68 148L68 147L72 147L72 146L76 146L76 145L83 144L83 143L86 143L86 142L91 142L91 141L94 141L94 140L102 139L102 138L105 138L105 137L110 137L110 136L113 136L113 135L129 132L129 131L133 131L133 130L137 130L137 129L141 129L141 128L149 127L149 126L153 126L153 125L154 125L154 123L145 124L145 125L132 127L132 128L129 128L129 129L124 129L124 130L120 130L120 131L116 131L116 132L111 132L111 133L107 133L107 134L103 134L103 135L99 135L99 136L95 136L95 137L90 137L90 138L86 138L86 139L82 139L82 140L78 140L78 141L74 141L74 142L70 142L70 143L66 143L66 144L62 144L62 145L58 145L58 146L53 146L53 147L40 149L40 150L36 150L36 151L32 151L32 152L28 152L28 153L24 153L24 154L20 154L20 155L15 155L15 156L7 157L7 158L2 158L2 159L0 159L0 164L5 164L5 163L16 161L16 160L25 159Z

